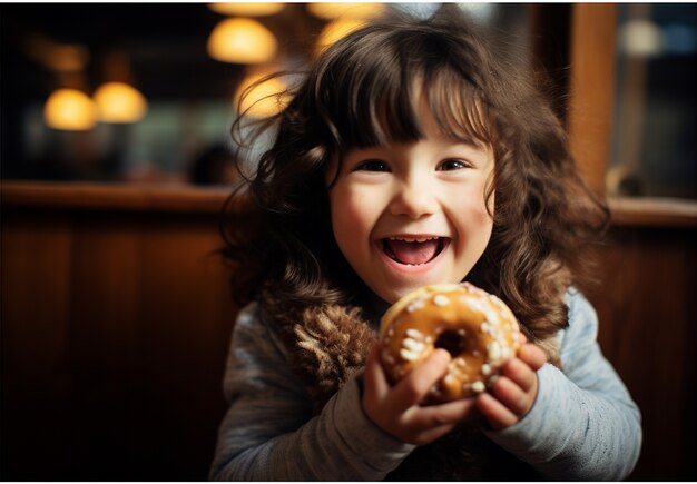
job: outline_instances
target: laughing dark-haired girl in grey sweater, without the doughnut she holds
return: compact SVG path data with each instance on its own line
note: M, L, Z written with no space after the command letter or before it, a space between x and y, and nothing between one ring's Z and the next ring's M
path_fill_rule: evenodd
M573 289L607 223L533 82L453 11L385 20L315 62L230 215L246 306L212 477L620 480L639 411ZM239 196L238 196L239 197ZM421 405L436 350L395 386L380 317L416 287L469 280L527 335L475 398Z

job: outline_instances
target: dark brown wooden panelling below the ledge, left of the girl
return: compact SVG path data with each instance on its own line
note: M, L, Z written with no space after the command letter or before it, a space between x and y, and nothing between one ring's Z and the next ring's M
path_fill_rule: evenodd
M205 480L237 310L217 207L6 201L2 478Z

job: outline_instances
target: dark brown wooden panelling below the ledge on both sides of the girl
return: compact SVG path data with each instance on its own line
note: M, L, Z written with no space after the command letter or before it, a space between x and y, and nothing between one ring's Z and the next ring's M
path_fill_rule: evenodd
M206 480L237 312L212 255L218 207L16 200L2 197L2 478ZM658 205L613 225L582 289L644 414L631 478L694 480L696 226Z

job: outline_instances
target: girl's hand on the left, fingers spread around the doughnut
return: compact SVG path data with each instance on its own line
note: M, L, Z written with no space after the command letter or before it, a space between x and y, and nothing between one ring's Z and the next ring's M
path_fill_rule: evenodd
M429 388L444 374L450 354L436 349L396 385L390 386L380 364L380 345L365 364L363 409L380 428L411 444L424 445L445 435L459 422L477 415L474 398L421 406Z

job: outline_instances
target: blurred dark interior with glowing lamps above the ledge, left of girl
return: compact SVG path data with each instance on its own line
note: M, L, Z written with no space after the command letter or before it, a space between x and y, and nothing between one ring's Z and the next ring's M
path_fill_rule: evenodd
M380 13L428 16L438 4L347 7L2 6L2 118L11 120L2 177L229 181L229 127L253 80L301 72L323 46ZM524 7L462 8L518 34L513 48L527 51ZM257 97L284 87L269 83ZM273 110L268 102L253 115Z

